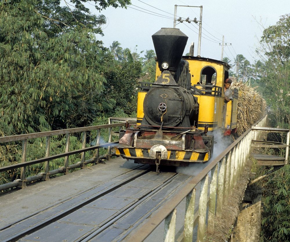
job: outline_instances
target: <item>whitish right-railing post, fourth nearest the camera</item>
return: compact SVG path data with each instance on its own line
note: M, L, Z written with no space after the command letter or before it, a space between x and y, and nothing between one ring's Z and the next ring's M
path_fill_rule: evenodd
M207 222L207 231L214 232L215 227L215 203L217 195L217 181L218 181L218 164L211 169L211 185L209 191L209 218Z

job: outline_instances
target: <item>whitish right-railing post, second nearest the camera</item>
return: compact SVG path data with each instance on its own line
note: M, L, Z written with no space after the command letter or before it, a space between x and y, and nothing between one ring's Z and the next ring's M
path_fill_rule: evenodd
M195 188L186 196L183 242L192 242Z

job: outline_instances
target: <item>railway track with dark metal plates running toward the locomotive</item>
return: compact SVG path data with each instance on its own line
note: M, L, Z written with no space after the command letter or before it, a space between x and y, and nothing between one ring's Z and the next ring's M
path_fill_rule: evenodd
M124 239L190 178L140 167L2 228L0 241Z

